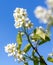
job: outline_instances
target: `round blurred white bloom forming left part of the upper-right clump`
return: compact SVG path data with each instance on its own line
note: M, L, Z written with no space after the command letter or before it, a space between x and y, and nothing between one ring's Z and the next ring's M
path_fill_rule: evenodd
M34 10L34 14L37 18L44 17L46 13L47 13L46 9L41 6L36 7L36 9Z

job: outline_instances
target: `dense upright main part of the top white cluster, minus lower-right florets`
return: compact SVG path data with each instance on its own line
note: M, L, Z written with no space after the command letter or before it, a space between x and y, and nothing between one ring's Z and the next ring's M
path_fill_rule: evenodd
M19 28L22 27L22 24L26 22L27 12L26 9L23 8L16 8L13 13L15 19L15 27Z

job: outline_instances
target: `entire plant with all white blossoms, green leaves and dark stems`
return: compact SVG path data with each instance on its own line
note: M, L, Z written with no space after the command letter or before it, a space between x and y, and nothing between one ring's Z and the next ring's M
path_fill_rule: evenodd
M5 46L5 52L8 53L8 56L13 56L15 60L24 62L24 65L28 65L27 59L33 61L34 65L47 65L43 57L38 52L38 46L50 41L50 27L53 26L53 0L46 1L48 9L38 6L34 13L35 16L47 24L46 30L44 30L41 26L33 29L33 23L28 18L26 9L16 8L14 10L13 16L15 20L15 28L19 28L18 35L16 38L16 43L8 44ZM28 34L28 30L32 28L32 32L30 35ZM21 50L21 46L23 43L23 36L27 38L26 40L29 42L24 49ZM33 45L35 43L35 46ZM31 51L31 56L27 55L27 52L33 48ZM37 55L38 56L37 56ZM53 62L53 53L49 54L48 61Z

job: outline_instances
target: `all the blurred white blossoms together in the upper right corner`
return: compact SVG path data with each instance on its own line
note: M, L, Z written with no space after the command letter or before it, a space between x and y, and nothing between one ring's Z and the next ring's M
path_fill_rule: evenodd
M53 0L47 0L46 3L48 5L48 9L38 6L34 10L34 14L43 23L50 23L51 19L53 19Z

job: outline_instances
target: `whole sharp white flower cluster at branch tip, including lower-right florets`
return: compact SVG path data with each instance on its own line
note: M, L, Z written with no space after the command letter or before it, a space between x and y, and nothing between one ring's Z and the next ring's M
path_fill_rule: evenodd
M15 19L15 24L14 26L16 28L20 28L25 25L27 28L31 28L33 24L28 18L27 11L26 9L23 8L16 8L13 13L14 19Z

